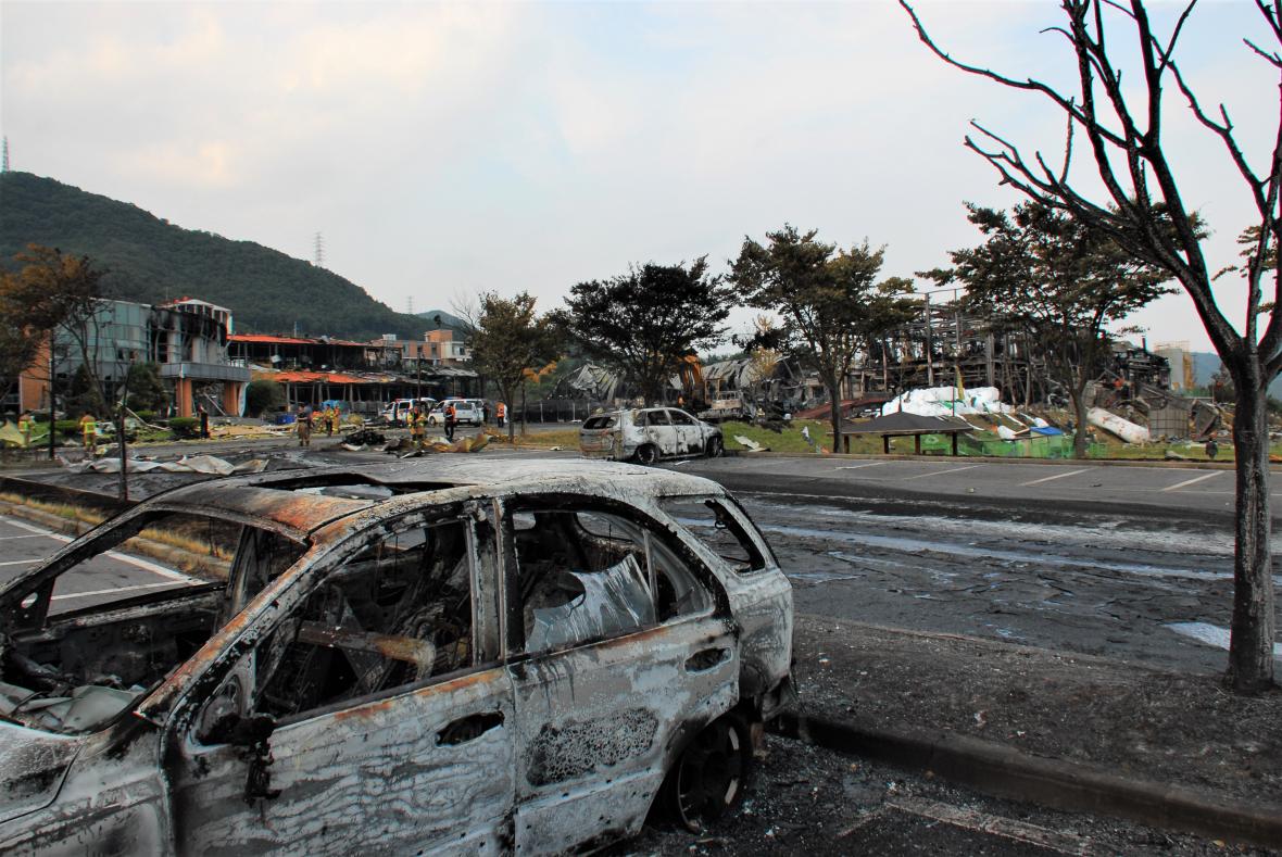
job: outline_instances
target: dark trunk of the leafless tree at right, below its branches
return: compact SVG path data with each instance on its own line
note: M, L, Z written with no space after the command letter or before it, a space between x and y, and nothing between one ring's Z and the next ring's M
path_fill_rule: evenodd
M1228 680L1240 693L1273 684L1273 557L1269 551L1268 407L1259 360L1224 361L1233 377L1237 411L1237 548L1233 556L1233 625Z

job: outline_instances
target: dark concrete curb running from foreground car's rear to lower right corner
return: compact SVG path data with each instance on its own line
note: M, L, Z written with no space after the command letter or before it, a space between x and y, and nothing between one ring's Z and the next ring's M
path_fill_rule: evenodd
M1126 779L1094 765L1029 756L947 731L888 731L791 712L781 715L772 728L828 749L928 771L995 797L1227 842L1282 847L1278 807L1228 803L1194 789Z

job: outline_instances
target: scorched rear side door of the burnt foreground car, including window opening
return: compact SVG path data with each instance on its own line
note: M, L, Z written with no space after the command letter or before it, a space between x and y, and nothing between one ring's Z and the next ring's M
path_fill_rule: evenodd
M724 592L618 506L523 500L504 520L517 848L635 833L685 739L737 702Z

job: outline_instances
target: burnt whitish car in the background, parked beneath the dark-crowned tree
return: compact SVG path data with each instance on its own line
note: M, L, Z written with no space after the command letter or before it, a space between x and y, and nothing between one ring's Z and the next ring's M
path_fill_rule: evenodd
M722 430L678 407L638 407L596 414L583 420L579 450L588 459L659 459L706 455L715 459L726 448Z

